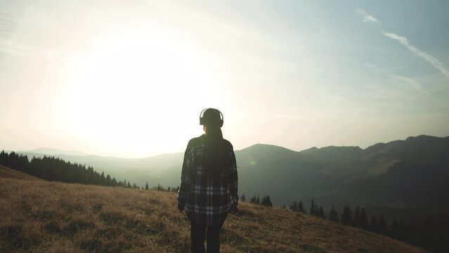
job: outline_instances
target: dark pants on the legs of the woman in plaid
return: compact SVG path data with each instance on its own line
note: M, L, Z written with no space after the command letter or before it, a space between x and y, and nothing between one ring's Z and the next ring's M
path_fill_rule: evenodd
M220 252L220 231L223 223L216 226L200 225L190 221L190 252L205 253L204 239L207 237L207 253Z

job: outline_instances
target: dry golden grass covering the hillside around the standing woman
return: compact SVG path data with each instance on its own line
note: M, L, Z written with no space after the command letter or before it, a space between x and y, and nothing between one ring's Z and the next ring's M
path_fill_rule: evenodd
M424 252L287 209L242 203L221 252ZM0 252L188 252L176 194L0 178Z

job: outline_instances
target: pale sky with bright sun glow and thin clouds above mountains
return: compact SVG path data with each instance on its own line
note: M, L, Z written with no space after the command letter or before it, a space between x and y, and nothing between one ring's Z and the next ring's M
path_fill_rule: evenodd
M0 149L449 136L448 1L0 0Z

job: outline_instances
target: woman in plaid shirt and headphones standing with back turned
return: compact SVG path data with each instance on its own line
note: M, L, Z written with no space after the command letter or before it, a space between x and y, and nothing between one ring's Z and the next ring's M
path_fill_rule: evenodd
M178 209L190 219L190 252L220 252L219 233L228 212L237 211L237 166L233 145L223 139L223 115L200 113L205 134L188 142L178 191Z

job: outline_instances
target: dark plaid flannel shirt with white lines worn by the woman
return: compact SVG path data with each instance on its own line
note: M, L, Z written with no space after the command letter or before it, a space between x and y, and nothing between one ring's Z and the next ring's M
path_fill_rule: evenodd
M203 166L204 134L188 142L178 190L178 205L195 223L217 225L226 219L229 210L238 203L237 166L233 145L226 140L228 157L219 180L212 180L210 171Z

